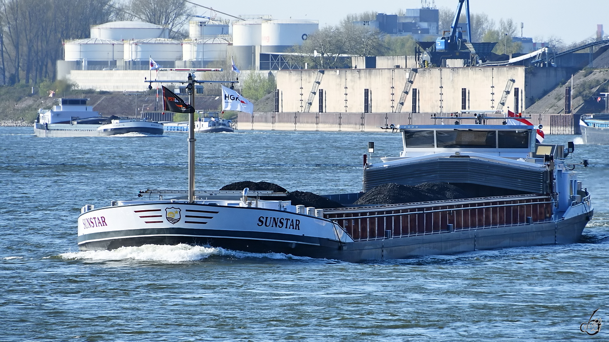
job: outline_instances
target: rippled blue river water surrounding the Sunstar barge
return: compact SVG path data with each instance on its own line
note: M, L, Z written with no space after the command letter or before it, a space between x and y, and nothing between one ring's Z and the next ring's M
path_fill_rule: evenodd
M576 136L549 136L565 143ZM197 189L361 190L399 134L197 134ZM192 246L80 252L84 204L185 189L186 134L37 138L0 127L0 341L607 340L609 150L576 145L594 218L580 243L354 264Z

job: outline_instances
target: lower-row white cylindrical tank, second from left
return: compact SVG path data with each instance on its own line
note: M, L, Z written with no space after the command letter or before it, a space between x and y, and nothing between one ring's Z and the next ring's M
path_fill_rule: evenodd
M125 41L124 60L143 61L149 60L150 57L157 62L181 60L181 43L165 38Z

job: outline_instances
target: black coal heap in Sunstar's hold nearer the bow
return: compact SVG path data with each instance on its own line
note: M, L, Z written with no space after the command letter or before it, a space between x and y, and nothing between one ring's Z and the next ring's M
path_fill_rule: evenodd
M258 190L272 190L274 192L287 192L286 201L292 201L292 205L303 205L307 207L315 207L317 209L327 208L343 208L344 206L336 201L330 200L320 195L313 194L312 192L305 191L287 191L277 184L268 182L253 182L253 181L242 181L231 183L223 186L220 190L243 190L245 187L252 191ZM277 197L260 197L261 200L279 200Z

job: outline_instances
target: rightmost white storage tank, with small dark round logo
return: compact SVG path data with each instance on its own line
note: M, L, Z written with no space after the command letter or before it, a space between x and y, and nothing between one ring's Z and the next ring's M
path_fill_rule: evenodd
M234 26L233 26L234 27ZM261 51L285 52L319 29L317 20L270 20L261 25Z

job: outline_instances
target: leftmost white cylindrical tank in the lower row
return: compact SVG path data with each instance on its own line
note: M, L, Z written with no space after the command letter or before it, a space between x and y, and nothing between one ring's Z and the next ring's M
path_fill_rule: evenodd
M86 38L65 41L63 43L64 60L66 61L113 61L123 58L122 41Z

